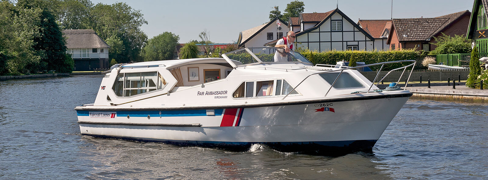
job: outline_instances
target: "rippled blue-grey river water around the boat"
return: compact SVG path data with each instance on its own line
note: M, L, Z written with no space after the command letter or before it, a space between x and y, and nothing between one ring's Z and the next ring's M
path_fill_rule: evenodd
M372 153L245 152L80 135L102 75L0 82L1 180L486 180L488 105L409 100Z

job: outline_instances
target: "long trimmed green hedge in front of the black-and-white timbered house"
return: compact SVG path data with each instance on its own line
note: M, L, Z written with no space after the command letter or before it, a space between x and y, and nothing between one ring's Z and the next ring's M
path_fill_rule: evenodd
M366 64L374 64L387 61L398 60L415 60L418 52L415 50L389 50L389 51L327 51L317 52L304 50L303 54L313 64L331 64L335 65L338 61L349 61L351 56L356 59L356 62L365 62ZM382 71L399 68L410 63L392 63L386 64ZM371 66L373 71L379 69L381 65Z

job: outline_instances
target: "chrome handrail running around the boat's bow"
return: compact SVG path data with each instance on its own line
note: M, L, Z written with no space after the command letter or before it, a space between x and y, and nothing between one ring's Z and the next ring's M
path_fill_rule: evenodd
M329 91L332 89L332 87L334 86L335 82L339 79L339 76L341 75L341 73L344 71L344 70L352 70L352 69L358 69L358 68L364 68L364 67L369 67L369 66L376 66L376 65L382 65L381 68L384 67L385 64L390 64L390 63L402 63L402 62L412 62L412 64L409 64L409 65L406 65L406 66L403 66L401 68L397 68L397 69L394 69L394 70L391 70L390 72L392 71L396 71L396 70L400 70L400 69L404 69L404 72L407 70L407 67L409 66L412 66L412 71L410 71L410 74L408 74L408 80L410 80L410 76L412 75L412 72L413 72L413 68L415 67L415 63L417 61L415 60L401 60L401 61L388 61L388 62L380 62L380 63L374 63L374 64L368 64L368 65L363 65L363 66L356 66L356 67L349 67L349 68L345 68L345 69L338 69L338 70L322 70L322 71L327 71L327 72L317 72L317 73L313 73L313 74L310 74L308 76L306 76L300 83L298 83L297 86L295 86L295 88L293 88L293 90L295 90L298 86L300 86L308 77L310 77L311 75L315 75L315 74L322 74L322 73L329 73L329 72L336 72L336 71L341 71L339 73L339 75L337 75L336 79L334 80L334 82L332 82L332 85L330 85L330 88L329 90L327 90L327 92L325 93L324 97L327 96L327 94L329 93ZM322 64L318 64L318 65L322 65ZM317 65L316 65L317 66ZM318 70L318 71L321 71L321 70ZM373 82L371 82L371 86L369 87L369 90L371 90L371 87L373 87L373 84L374 82L376 81L376 78L378 78L378 75L380 74L381 72L381 69L380 71L378 71L378 73L376 74L376 77L374 78ZM379 82L383 81L383 79L385 79L385 77L390 73L388 72ZM402 72L402 75L400 75L400 79L402 78L404 72ZM400 79L398 80L398 82L400 82ZM407 80L407 81L408 81ZM398 84L397 82L397 84ZM407 88L407 83L405 84L405 87L404 89ZM288 92L285 97L283 97L282 100L284 100L286 97L288 97L288 95L293 92L293 90L291 90L290 92ZM366 93L369 93L369 90L366 92Z

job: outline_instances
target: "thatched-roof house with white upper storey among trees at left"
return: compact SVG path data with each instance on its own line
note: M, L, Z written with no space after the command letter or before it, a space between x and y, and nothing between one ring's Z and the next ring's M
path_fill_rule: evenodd
M74 71L109 69L108 48L92 29L63 30L66 37L66 53L75 61Z

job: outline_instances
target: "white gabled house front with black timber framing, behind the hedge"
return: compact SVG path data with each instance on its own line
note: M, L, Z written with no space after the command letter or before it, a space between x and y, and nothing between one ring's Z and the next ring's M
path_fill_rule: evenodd
M292 19L293 25L295 22ZM348 18L339 8L326 13L302 13L298 19L296 46L312 51L374 50L382 49L374 38ZM295 26L290 26L295 31ZM264 46L274 46L277 40Z

